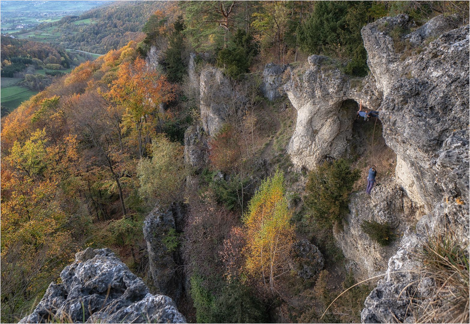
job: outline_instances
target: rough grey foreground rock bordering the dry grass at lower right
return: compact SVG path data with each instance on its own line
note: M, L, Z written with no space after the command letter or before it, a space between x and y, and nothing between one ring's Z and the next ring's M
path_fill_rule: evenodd
M444 141L437 154L439 177L444 179L443 200L418 221L416 233L411 229L405 231L399 250L388 262L386 277L378 282L365 301L361 313L363 323L392 323L395 318L403 323L415 322L414 308L408 308L409 297L414 296L415 302L425 302L434 285L431 279L418 280L419 274L415 272L422 265L415 253L430 235L444 235L444 231L450 230L457 242L468 246L469 143L468 130L456 131Z

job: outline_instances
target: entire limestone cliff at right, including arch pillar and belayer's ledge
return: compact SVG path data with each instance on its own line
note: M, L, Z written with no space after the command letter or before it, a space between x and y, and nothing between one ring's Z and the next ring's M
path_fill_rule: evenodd
M326 57L313 55L305 74L292 73L284 85L298 111L288 147L298 169L343 156L355 114L345 108L347 100L363 100L380 111L382 135L397 154L395 180L374 188L371 199L352 196L344 232L335 233L364 277L388 273L366 300L367 323L412 320L409 300L397 297L415 277L393 271L419 265L410 250L428 233L446 227L464 245L469 239L469 25L438 16L407 35L390 35L414 26L407 15L398 15L363 27L370 69L365 78L347 77ZM374 245L360 230L363 219L391 222L399 241ZM418 220L414 232L409 225ZM420 289L425 295L427 288Z

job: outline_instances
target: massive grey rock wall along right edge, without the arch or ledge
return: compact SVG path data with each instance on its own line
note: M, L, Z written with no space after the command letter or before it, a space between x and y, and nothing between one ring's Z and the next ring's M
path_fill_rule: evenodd
M443 33L414 57L387 56L397 44L380 26L403 26L408 20L406 15L381 19L365 26L362 36L371 52L369 68L384 91L384 138L401 160L397 180L404 189L414 188L409 195L428 213L416 224L416 233L404 233L386 277L366 299L363 323L414 322L413 307L407 311L409 296L421 302L434 284L416 280L420 263L413 251L444 229L462 245L469 240L469 26ZM446 22L437 17L421 29L454 27ZM408 38L419 40L417 34Z

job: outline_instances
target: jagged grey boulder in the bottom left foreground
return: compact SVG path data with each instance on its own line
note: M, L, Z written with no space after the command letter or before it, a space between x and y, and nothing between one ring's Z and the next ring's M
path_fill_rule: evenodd
M78 252L60 278L19 323L186 323L170 297L149 293L109 248Z

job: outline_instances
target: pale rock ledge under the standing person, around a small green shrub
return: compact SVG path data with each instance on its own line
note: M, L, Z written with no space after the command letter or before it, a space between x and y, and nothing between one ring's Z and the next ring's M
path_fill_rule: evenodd
M356 278L363 280L384 273L387 261L399 248L399 239L385 247L370 239L360 227L362 222L388 222L398 236L420 218L419 209L414 207L396 182L374 187L370 196L365 191L352 193L351 213L343 224L344 229L333 235Z

